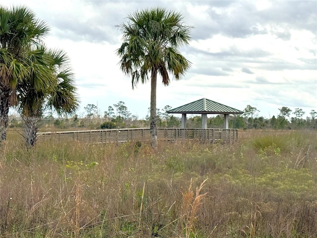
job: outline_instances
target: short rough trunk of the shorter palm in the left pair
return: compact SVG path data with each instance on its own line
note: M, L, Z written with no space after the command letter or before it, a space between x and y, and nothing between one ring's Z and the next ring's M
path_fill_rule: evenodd
M33 147L36 142L36 133L39 130L37 117L25 117L24 120L24 134L25 144L28 148Z

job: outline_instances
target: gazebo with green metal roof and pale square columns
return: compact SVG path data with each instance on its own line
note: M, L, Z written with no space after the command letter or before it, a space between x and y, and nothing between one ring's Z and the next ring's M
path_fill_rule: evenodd
M201 114L202 115L202 128L207 129L207 114L223 114L223 128L229 128L229 114L243 114L244 112L228 107L221 103L211 101L203 98L192 103L185 104L178 108L167 111L169 114L182 114L181 128L186 128L186 115L187 114Z

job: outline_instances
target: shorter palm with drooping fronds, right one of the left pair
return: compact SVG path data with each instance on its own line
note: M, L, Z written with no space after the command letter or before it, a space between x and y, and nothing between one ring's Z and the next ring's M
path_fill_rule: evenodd
M58 115L72 115L79 105L73 72L66 54L60 50L48 51L43 46L31 53L33 57L30 57L30 61L37 68L29 70L33 73L18 86L19 109L24 119L23 136L27 147L35 144L38 122L45 108L55 110ZM51 70L50 77L45 77L41 68Z

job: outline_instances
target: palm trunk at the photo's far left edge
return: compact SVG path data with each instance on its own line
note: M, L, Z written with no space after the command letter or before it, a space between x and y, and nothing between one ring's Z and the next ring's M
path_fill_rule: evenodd
M6 139L6 129L8 127L8 116L10 108L10 90L0 85L0 144Z

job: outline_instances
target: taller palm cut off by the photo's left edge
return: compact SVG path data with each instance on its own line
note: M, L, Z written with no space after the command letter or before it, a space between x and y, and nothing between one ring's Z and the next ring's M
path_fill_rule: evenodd
M26 52L48 32L27 7L0 6L0 142L6 138L9 107L17 105L17 84L28 73Z

